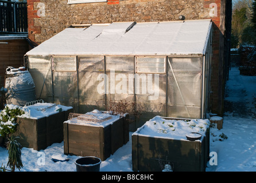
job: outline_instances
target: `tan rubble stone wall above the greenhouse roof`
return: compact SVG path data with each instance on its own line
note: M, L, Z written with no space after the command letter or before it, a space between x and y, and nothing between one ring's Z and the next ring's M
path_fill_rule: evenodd
M118 2L118 4L98 2L70 5L67 0L30 0L28 1L29 28L32 34L30 39L41 43L66 27L80 23L177 21L179 15L184 15L186 19L211 18L209 16L210 4L204 6L205 3L201 0ZM42 9L44 9L44 14L41 12Z

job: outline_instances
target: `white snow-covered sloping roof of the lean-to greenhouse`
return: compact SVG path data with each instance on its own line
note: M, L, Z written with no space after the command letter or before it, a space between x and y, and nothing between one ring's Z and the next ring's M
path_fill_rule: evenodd
M211 20L114 22L67 28L26 55L205 54Z

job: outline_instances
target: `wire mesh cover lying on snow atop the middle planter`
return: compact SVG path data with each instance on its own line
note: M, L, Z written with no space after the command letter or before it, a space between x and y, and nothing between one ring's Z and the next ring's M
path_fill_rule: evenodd
M68 116L68 120L73 123L101 123L110 120L111 118L110 114L103 113L69 113Z

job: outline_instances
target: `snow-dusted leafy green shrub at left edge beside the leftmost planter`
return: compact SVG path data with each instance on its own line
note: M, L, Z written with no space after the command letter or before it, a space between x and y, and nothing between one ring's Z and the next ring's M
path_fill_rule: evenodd
M9 108L8 105L0 113L0 134L2 137L9 137L9 134L16 132L18 116L25 112L18 108Z

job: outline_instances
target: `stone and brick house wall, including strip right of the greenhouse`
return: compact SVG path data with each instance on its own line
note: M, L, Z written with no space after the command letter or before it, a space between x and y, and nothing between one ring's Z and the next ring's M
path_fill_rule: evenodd
M224 0L108 0L98 3L68 4L68 0L28 0L29 39L35 45L44 42L72 24L123 21L156 22L211 18L214 22L212 57L212 112L222 114L223 81L220 67L221 7ZM54 3L53 3L54 2ZM217 10L210 15L211 10ZM39 14L38 14L39 12ZM221 87L222 88L222 87Z

